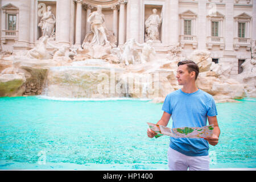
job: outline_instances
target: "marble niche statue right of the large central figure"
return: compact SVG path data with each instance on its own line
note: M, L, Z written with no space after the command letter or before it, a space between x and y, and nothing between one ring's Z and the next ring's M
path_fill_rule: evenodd
M162 13L159 16L157 13L158 10L153 9L148 19L145 22L146 27L146 35L145 35L145 41L148 40L158 40L159 41L159 27L162 23Z

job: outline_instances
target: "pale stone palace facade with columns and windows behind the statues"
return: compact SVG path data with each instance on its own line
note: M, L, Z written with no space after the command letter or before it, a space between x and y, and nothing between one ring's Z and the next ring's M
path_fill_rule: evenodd
M207 49L215 63L227 63L231 75L251 59L256 40L256 0L0 0L0 51L31 49L42 36L39 23L47 6L55 16L53 43L81 47L90 32L88 16L101 5L105 26L117 38L117 46L134 38L145 41L145 22L152 9L162 17L159 42L154 48L166 54L180 46L187 56Z

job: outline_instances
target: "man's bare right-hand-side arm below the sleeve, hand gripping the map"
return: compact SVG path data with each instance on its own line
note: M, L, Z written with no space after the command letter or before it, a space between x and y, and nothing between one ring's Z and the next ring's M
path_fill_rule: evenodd
M207 116L209 125L213 125L213 135L212 137L207 137L205 140L209 142L212 146L218 144L218 137L220 137L220 127L218 127L218 121L216 115L213 117Z

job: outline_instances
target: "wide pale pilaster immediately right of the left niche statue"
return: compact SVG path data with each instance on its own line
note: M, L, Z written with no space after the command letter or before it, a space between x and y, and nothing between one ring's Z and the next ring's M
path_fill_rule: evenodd
M70 22L71 22L70 0L57 0L56 6L56 42L58 44L70 44Z

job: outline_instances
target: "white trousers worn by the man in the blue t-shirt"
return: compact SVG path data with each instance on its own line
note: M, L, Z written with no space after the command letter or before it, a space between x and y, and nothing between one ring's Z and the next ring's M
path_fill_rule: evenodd
M207 156L187 156L169 147L168 167L171 171L209 171L210 158Z

